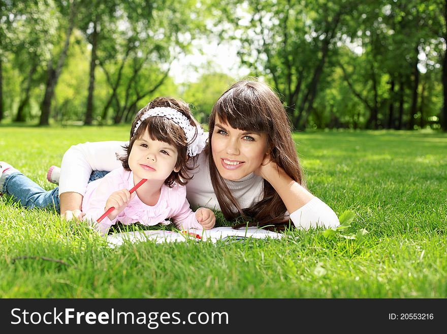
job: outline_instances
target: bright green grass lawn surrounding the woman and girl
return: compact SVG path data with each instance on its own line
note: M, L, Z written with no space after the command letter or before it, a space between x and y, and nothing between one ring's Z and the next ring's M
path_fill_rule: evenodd
M129 126L2 127L0 160L45 189L47 168L84 141L126 140ZM86 227L0 200L0 297L447 297L447 135L294 135L309 189L355 212L328 238L126 244L110 249ZM219 221L225 225L226 222ZM343 236L359 229L361 239ZM17 257L47 257L17 259Z

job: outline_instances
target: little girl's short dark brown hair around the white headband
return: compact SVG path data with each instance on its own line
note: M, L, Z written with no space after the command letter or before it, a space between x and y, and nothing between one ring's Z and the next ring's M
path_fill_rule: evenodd
M186 185L187 182L193 178L189 176L189 171L193 170L196 165L196 160L198 155L195 157L187 156L187 145L185 133L183 129L175 123L172 119L162 116L148 117L140 124L137 132L134 134L135 126L140 120L140 117L149 109L156 107L168 107L181 112L188 118L192 126L197 126L198 123L194 119L189 106L186 102L180 99L174 99L170 97L158 97L153 101L149 102L143 109L141 109L135 116L134 123L132 124L129 145L124 145L123 148L126 150L126 154L123 156L117 156L117 158L122 162L122 167L125 170L131 170L129 168L129 155L131 154L132 146L135 140L141 138L145 131L147 131L150 139L159 140L177 148L177 162L175 168L180 168L178 172L172 171L172 173L165 180L164 184L168 187L173 187L175 183L182 186ZM197 136L197 130L196 130ZM193 138L193 140L195 137Z

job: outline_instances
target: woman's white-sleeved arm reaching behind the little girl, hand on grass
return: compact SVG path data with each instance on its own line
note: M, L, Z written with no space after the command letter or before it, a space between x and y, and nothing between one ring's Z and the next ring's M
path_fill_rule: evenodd
M121 166L116 153L124 154L123 141L86 142L70 147L62 158L59 179L60 213L81 208L93 170L111 171Z

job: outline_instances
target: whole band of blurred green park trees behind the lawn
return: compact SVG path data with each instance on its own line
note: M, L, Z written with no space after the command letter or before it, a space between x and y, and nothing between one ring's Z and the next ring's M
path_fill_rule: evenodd
M201 40L237 45L234 65L275 88L295 129L447 130L445 0L0 0L0 11L5 124L130 122L159 95L206 123L242 75L211 60L179 82L172 64L206 52Z

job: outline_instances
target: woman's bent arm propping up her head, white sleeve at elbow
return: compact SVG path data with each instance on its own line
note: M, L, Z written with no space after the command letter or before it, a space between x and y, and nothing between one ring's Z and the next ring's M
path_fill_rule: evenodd
M313 196L293 180L281 167L267 156L257 170L272 185L285 207L291 213L290 219L298 228L323 226L335 227L340 224L335 212L322 200Z

